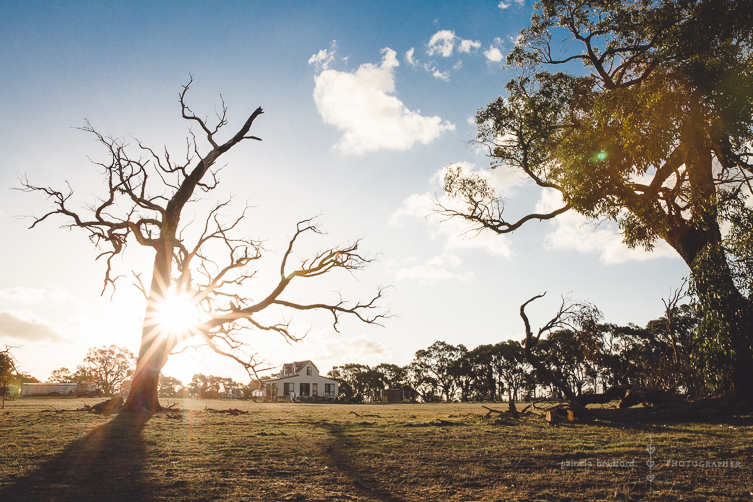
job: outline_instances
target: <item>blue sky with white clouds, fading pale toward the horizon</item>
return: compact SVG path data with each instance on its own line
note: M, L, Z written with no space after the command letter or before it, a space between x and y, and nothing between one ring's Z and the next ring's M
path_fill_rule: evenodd
M606 321L645 324L687 270L671 251L629 252L613 225L575 214L509 236L461 236L426 210L453 163L488 172L468 146L478 108L504 93L502 58L530 19L529 0L509 2L6 2L0 11L0 341L20 346L38 378L83 359L87 348L138 349L143 306L128 281L99 296L103 266L83 233L24 215L48 206L12 191L18 174L37 184L67 180L80 204L101 193L88 157L100 152L75 129L135 137L181 151L188 125L180 86L195 76L192 108L211 115L222 94L228 131L257 106L253 133L225 159L223 196L248 202L248 235L263 239L276 270L295 223L321 215L328 234L312 249L363 239L378 261L352 278L294 294L366 297L391 285L396 317L384 328L355 322L335 333L326 317L296 317L303 342L249 343L272 365L312 359L326 371L348 362L407 364L436 340L468 348L521 338L518 309L544 321L560 295L590 300ZM101 158L101 157L100 157ZM515 173L489 174L510 215L556 204ZM134 252L123 271L149 271ZM265 284L264 270L258 287ZM242 379L240 367L199 353L165 372Z

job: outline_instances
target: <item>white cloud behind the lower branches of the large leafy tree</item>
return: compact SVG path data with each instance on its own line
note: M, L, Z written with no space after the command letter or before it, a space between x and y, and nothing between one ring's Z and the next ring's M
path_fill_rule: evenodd
M537 212L551 212L562 207L562 198L556 190L545 190L536 204ZM622 235L614 222L596 225L575 211L567 211L554 220L554 230L545 238L546 246L554 250L574 250L580 253L599 254L605 264L626 261L645 261L655 258L677 258L677 252L665 241L657 241L654 250L630 249L622 242Z

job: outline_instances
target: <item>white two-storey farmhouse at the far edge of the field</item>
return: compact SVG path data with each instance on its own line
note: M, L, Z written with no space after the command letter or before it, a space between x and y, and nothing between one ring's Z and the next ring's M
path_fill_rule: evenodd
M322 398L337 397L337 380L319 376L319 370L311 361L285 363L277 378L264 381L267 397L276 398Z

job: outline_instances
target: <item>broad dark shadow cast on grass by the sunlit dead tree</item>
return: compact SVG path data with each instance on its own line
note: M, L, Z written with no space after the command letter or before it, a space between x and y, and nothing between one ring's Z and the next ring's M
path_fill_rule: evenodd
M0 493L10 501L152 500L141 430L149 416L121 413Z

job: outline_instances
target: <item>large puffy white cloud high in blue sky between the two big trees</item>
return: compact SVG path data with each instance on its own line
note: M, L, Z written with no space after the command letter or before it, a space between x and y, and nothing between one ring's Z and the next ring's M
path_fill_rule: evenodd
M409 110L395 93L397 53L382 49L381 65L362 64L355 72L324 70L317 75L314 101L325 124L343 131L335 148L346 154L407 150L427 144L455 125L438 116Z

